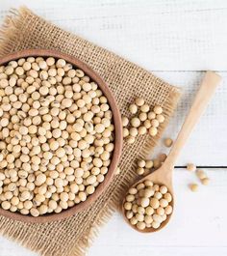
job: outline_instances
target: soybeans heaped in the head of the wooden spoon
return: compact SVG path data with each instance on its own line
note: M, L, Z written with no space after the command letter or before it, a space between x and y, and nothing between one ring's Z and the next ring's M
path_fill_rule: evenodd
M172 213L172 195L165 185L146 180L131 187L125 198L125 216L139 230L158 229Z

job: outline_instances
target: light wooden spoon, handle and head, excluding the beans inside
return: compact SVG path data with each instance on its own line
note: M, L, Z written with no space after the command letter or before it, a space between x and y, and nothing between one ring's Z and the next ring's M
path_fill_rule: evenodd
M207 71L201 86L197 92L197 95L190 107L189 114L185 120L185 123L183 124L177 139L175 143L172 146L172 149L168 156L166 157L163 165L153 172L152 174L147 175L146 177L139 180L138 183L135 185L132 185L132 187L136 187L139 185L139 183L144 182L146 180L152 181L154 184L158 185L165 185L168 188L168 192L172 194L173 196L173 187L172 187L172 173L174 169L174 164L176 162L177 156L179 156L179 153L181 152L183 146L185 145L187 139L189 138L189 134L192 131L192 128L194 128L195 124L198 122L199 118L201 117L202 113L206 109L208 102L211 100L212 96L214 95L214 90L217 86L217 84L221 81L221 77L216 74L214 71ZM167 218L164 220L164 222L161 224L161 226L158 229L154 228L145 228L144 230L139 230L137 226L134 226L130 223L129 219L126 217L125 209L124 209L124 202L122 204L122 211L124 218L126 221L139 232L142 233L149 233L149 232L156 232L162 228L168 223L171 214L167 215ZM170 202L170 205L174 207L174 200Z

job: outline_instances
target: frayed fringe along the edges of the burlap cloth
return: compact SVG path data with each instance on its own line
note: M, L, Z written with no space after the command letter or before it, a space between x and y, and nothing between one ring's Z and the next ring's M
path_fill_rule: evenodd
M20 8L17 10L11 10L10 14L7 15L5 18L4 24L2 26L2 29L0 30L0 54L4 55L6 52L11 51L9 48L8 40L9 39L16 39L19 37L19 28L22 23L22 20L27 16L31 14L31 11L27 8ZM177 102L179 100L180 96L180 90L176 87L172 87L169 85L169 97L167 98L167 101L164 103L164 116L168 117L165 119L164 123L161 124L159 127L159 132L155 138L152 138L150 136L146 136L146 142L142 148L142 150L139 152L138 157L145 158L147 155L151 152L151 150L156 146L158 140L161 138L164 128L166 128L169 117L174 112L174 109L176 108ZM105 211L101 211L94 220L94 224L89 226L87 230L84 231L83 235L81 236L81 239L77 241L77 244L71 247L71 250L67 251L65 255L73 255L73 256L84 256L88 247L93 242L93 240L98 236L99 229L102 225L104 225L110 217L115 212L115 209L119 206L119 198L122 198L122 194L125 193L126 188L129 184L135 181L135 168L136 168L136 161L133 164L132 171L127 173L127 179L124 177L125 184L124 186L118 187L116 190L114 190L113 197L106 202L106 205L104 206ZM126 175L126 174L125 174ZM106 207L108 205L108 207ZM18 223L18 221L14 221L11 219L5 219L3 222L1 222L1 234L8 237L9 239L18 242L27 248L34 250L41 255L50 256L50 252L48 251L48 248L40 246L38 241L31 240L30 234L26 234L24 230L21 230L21 233L18 234L15 229L10 228L12 223ZM36 230L34 230L36 232Z

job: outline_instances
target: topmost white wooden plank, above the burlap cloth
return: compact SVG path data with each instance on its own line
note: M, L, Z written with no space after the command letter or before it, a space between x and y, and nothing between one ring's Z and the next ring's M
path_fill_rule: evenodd
M223 0L2 0L0 18L10 7L21 5L146 69L226 70Z

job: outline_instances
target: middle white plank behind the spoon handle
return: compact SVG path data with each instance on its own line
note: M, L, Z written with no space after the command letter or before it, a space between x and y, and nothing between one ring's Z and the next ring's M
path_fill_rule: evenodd
M164 133L164 137L175 138L187 115L204 72L164 71L155 73L164 78L164 80L179 85L183 91L182 99L179 102L174 117ZM188 143L177 161L177 165L186 165L191 161L202 166L227 165L227 151L225 150L227 148L227 73L219 72L219 74L222 76L223 82L217 88L214 98L208 105L199 124L194 128ZM151 156L156 156L161 152L168 152L168 149L164 148L163 140L160 141L159 146Z

